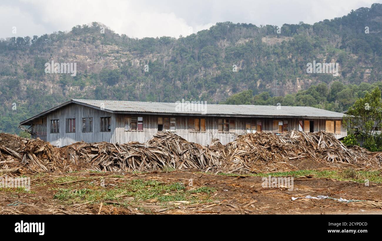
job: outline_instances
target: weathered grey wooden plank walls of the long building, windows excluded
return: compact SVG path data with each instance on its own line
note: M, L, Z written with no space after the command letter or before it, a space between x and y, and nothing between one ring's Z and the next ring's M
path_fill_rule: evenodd
M143 117L143 131L125 131L125 117ZM92 132L82 132L82 118L92 117ZM100 117L111 117L111 131L100 132ZM189 132L188 118L193 116L162 116L155 114L114 114L101 111L91 107L70 104L46 116L47 137L46 140L56 146L70 145L76 141L99 142L107 141L111 143L126 143L128 141L144 142L152 138L158 131L158 117L175 117L176 133L188 141L196 142L201 145L209 145L212 138L218 138L224 145L235 139L235 135L246 133L246 119L256 119L262 121L262 131L272 132L273 120L288 121L288 130L299 128L299 120L296 118L249 118L249 117L212 117L195 116L195 118L206 119L206 132ZM66 119L76 119L76 132L66 132ZM59 119L59 133L50 133L50 120ZM235 130L230 133L218 132L218 119L235 119ZM308 120L308 119L306 119ZM325 130L326 119L309 119L314 121L314 131ZM340 119L338 119L340 120ZM341 125L341 134L335 134L336 138L346 136L346 130Z

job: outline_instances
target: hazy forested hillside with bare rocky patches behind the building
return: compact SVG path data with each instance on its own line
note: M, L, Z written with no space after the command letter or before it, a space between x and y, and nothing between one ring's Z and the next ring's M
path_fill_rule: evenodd
M373 4L313 25L220 22L178 39L133 39L97 22L2 39L0 132L18 133L20 120L71 98L219 103L246 90L272 97L273 89L284 96L320 83L328 89L335 81L376 83L382 79L381 31L382 5ZM51 61L76 63L76 76L45 73ZM313 61L338 63L338 76L308 74ZM299 104L312 105L308 99ZM336 96L326 101L334 103ZM346 105L337 101L335 108Z

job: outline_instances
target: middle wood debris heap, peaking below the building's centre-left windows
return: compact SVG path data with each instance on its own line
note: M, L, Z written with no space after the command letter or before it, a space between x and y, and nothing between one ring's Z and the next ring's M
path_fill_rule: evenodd
M216 171L220 167L214 151L168 132L158 133L144 144L74 143L66 147L66 153L66 158L76 164L89 162L97 170L113 172L168 168Z

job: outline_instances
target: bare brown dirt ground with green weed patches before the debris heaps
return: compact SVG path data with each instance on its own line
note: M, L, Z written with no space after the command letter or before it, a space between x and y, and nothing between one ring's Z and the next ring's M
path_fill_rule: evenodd
M298 177L293 190L262 177L199 171L26 174L30 191L0 189L0 214L382 214L382 184ZM307 195L362 200L296 199Z

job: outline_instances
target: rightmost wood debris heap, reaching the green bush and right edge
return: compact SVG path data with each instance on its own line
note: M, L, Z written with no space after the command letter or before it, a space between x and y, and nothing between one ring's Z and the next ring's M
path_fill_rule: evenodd
M379 166L381 153L371 153L364 148L348 149L330 133L290 131L274 133L248 133L225 145L222 156L231 165L229 172L252 172L256 162L292 162L309 159L326 163L342 163L359 167Z

